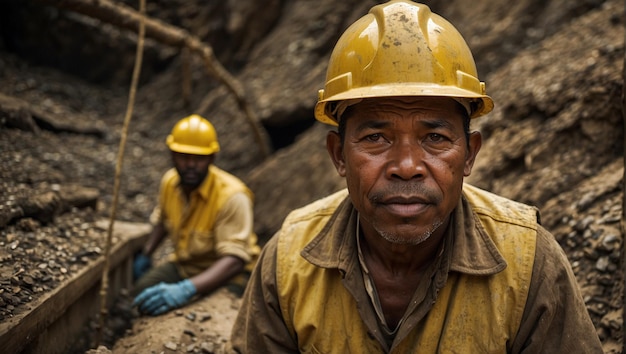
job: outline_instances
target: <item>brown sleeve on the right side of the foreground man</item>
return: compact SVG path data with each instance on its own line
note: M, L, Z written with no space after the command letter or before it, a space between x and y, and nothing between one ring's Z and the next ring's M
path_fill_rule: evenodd
M603 353L565 252L543 227L513 353Z

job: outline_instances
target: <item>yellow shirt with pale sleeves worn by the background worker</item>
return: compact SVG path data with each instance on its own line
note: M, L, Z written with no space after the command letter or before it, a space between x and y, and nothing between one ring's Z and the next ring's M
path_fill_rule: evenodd
M189 200L179 183L175 169L165 173L151 221L167 228L175 247L169 260L181 276L199 274L229 255L251 268L260 251L253 231L252 192L237 177L213 165Z

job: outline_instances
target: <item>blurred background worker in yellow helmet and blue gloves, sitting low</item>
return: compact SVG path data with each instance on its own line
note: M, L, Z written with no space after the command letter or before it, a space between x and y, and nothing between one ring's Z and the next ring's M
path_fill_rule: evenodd
M191 115L176 123L166 142L174 168L161 180L154 227L133 265L133 304L148 315L181 307L229 282L243 291L242 272L252 268L260 251L252 192L213 164L220 149L213 125ZM166 235L175 250L153 268L151 255Z

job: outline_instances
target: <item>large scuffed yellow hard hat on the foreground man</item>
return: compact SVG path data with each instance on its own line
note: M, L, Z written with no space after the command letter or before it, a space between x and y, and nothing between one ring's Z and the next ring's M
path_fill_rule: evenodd
M337 125L338 102L391 96L457 98L472 118L493 109L461 34L428 6L407 0L372 7L342 34L315 118Z

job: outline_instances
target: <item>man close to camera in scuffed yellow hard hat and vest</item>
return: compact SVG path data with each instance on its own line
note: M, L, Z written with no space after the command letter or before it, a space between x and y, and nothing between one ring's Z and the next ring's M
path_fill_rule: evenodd
M459 32L374 6L340 37L315 117L347 189L288 215L252 273L241 353L602 353L538 210L464 184L493 108Z

